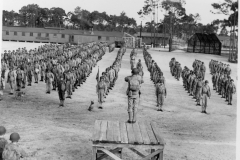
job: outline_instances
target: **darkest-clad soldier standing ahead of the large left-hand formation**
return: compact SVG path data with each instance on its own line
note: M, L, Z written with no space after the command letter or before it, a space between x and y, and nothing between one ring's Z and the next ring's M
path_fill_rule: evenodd
M66 82L64 80L63 75L59 76L58 81L58 96L60 100L59 107L64 107L64 100L65 100L65 92L66 92Z

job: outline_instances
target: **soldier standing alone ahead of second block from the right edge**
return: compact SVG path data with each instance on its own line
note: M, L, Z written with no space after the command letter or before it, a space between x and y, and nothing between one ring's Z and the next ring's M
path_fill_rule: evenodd
M205 81L205 84L202 86L202 112L201 113L207 113L206 108L207 108L207 97L211 97L211 91L210 87L208 86L208 81Z

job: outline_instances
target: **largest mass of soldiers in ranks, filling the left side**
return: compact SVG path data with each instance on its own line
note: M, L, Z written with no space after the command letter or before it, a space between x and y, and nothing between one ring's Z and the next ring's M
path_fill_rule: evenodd
M53 90L58 88L59 91L58 82L64 79L66 86L62 88L67 91L66 98L71 98L72 92L77 89L77 86L85 82L87 76L91 73L92 67L96 65L106 51L106 43L97 44L96 42L68 47L64 45L58 47L54 45L44 46L44 49L40 48L34 52L27 52L27 50L22 49L14 52L15 54L12 52L10 55L5 55L1 75L5 79L6 66L9 66L7 82L11 88L10 94L13 94L15 81L17 85L16 91L20 91L21 88L25 88L27 82L28 86L31 86L32 77L34 77L35 83L38 83L40 75L40 81L46 83L46 93L48 94L51 92L51 86L53 86ZM19 53L23 53L26 57L20 58L16 62L12 55L20 56ZM31 61L32 54L38 59ZM13 70L15 67L17 68L16 73ZM59 98L60 106L63 106L62 101L64 98L62 94L59 94Z

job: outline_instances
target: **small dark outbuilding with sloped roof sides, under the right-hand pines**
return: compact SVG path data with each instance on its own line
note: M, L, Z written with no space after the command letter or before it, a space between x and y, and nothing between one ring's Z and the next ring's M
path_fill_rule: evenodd
M188 40L187 52L221 55L222 43L215 34L195 33Z

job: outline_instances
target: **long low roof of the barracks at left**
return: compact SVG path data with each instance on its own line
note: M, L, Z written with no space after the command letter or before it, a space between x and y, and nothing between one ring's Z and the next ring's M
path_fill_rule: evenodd
M107 31L90 31L70 30L70 29L54 29L54 28L30 28L30 27L2 27L3 31L10 32L33 32L33 33L49 33L49 34L73 34L73 35L88 35L88 36L108 36L108 37L123 37L122 32L107 32Z

